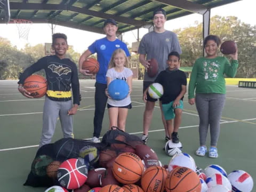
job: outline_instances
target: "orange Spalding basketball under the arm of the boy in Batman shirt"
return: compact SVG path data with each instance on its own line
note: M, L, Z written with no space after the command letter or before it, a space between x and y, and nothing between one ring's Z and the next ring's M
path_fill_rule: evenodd
M40 75L30 75L23 84L24 89L34 98L41 98L47 91L46 79Z

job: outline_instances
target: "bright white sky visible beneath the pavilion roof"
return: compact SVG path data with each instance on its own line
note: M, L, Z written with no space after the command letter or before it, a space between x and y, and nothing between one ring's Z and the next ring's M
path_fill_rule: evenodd
M242 22L255 26L255 7L255 0L242 0L212 9L211 17L214 15L220 15L222 17L236 16ZM202 20L202 15L190 14L185 17L166 21L165 29L173 30L191 27L195 26L196 21L202 22ZM147 32L147 29L141 28L139 30L140 38ZM15 24L0 24L0 37L9 39L12 45L17 46L18 49L21 49L27 43L29 43L31 46L36 44L51 43L51 33L51 24L33 24L30 26L28 41L26 41L25 39L19 38L18 29ZM54 33L65 33L68 37L68 44L73 45L74 50L79 53L83 53L95 40L105 37L105 35L102 34L62 26L55 26ZM132 45L132 42L137 41L136 38L137 30L123 34L123 41L129 43L129 46Z

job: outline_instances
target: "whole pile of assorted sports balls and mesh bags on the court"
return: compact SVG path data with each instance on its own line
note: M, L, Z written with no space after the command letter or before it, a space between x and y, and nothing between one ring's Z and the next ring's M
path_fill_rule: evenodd
M139 137L111 130L101 143L61 139L43 146L25 185L49 187L47 192L250 192L253 180L241 170L227 175L219 165L203 171L186 153L162 165Z

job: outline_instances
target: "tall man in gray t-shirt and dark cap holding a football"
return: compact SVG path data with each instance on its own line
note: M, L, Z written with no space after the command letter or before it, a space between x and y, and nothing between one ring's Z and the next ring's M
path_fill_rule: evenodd
M145 76L143 80L143 92L147 89L147 87L154 83L157 75L167 68L167 56L172 51L177 51L181 54L180 44L177 38L177 35L172 31L165 30L164 23L166 22L166 12L162 8L158 8L153 13L153 23L154 23L154 31L151 31L144 35L141 39L138 53L140 63L145 67ZM156 59L158 62L158 74L155 77L149 77L147 74L147 68L150 66L149 60ZM147 94L147 102L143 115L143 135L141 140L145 143L148 140L148 130L151 123L151 119L153 116L153 110L155 106L155 101L157 99L150 98ZM177 134L168 135L166 129L166 121L162 111L162 102L159 100L159 105L161 107L162 120L165 129L165 139L169 140L170 137L178 137Z

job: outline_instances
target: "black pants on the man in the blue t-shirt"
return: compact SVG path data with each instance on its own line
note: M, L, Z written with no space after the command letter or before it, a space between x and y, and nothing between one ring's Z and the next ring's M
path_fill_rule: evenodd
M95 83L95 111L94 111L94 119L93 119L93 137L100 137L100 132L102 129L102 121L105 113L105 108L107 104L107 95L105 94L105 90L107 89L107 84Z

